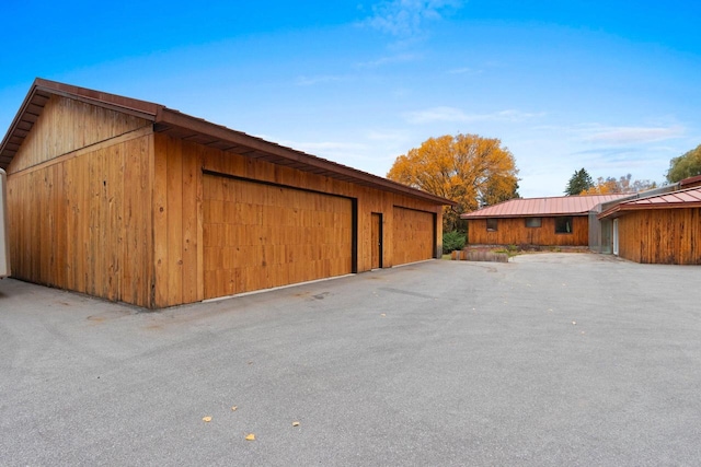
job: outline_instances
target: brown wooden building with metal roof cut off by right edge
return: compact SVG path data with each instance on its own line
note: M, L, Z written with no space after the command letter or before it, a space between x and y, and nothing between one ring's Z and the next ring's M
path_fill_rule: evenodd
M598 218L612 221L613 254L636 262L701 265L701 186L623 201Z

